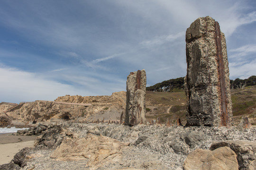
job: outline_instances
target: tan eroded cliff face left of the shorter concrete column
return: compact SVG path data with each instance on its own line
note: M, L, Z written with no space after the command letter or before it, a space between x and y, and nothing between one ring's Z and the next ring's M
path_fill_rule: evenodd
M1 104L0 112L8 121L96 121L120 120L125 110L126 93L116 92L111 96L63 96L53 101L35 101L18 105ZM4 113L6 112L6 113ZM6 122L4 122L6 124ZM9 123L11 124L11 123Z

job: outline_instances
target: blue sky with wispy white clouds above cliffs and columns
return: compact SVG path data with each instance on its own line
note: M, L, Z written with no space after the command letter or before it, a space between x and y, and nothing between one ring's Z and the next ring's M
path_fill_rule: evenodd
M132 71L147 86L186 75L185 32L210 16L230 78L256 75L255 0L1 0L0 102L111 95Z

